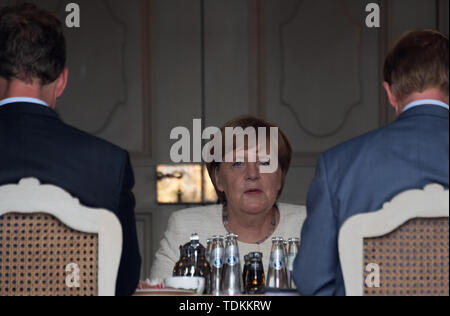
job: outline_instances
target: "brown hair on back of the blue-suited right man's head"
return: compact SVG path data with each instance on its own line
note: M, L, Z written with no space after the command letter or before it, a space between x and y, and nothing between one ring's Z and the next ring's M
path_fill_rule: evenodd
M448 37L434 30L413 31L389 53L384 80L398 100L433 88L448 96L448 67Z

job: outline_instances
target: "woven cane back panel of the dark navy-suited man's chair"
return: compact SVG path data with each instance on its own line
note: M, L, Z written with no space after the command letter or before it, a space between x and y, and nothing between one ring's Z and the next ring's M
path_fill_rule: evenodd
M97 263L96 234L46 214L0 217L0 296L95 296Z

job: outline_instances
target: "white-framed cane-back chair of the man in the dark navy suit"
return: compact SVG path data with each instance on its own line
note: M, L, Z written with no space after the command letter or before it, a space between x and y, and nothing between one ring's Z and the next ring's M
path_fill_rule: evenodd
M0 296L113 296L121 252L113 213L37 179L0 187Z

